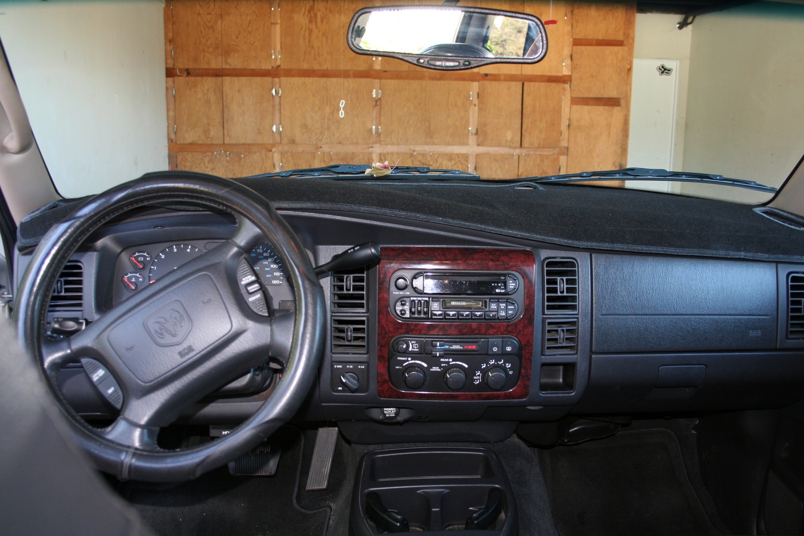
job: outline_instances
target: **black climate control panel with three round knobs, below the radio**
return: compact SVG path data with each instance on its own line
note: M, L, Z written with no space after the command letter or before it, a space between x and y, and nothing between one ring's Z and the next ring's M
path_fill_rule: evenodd
M522 347L509 336L400 335L388 356L388 376L402 391L509 391L519 381Z

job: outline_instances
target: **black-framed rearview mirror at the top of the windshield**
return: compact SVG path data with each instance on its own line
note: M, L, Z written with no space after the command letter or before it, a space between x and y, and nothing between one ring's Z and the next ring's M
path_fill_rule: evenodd
M548 52L539 18L484 7L364 7L352 17L347 41L358 54L450 71L536 63Z

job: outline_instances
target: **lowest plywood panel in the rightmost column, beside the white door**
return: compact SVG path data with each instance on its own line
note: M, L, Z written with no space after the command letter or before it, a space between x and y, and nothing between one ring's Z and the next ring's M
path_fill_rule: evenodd
M626 166L622 142L628 137L628 124L622 107L572 106L570 121L568 173Z

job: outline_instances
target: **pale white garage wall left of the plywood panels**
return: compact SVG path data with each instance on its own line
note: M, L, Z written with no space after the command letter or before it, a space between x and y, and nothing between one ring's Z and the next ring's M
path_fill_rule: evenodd
M59 193L167 169L163 2L0 2L0 39Z

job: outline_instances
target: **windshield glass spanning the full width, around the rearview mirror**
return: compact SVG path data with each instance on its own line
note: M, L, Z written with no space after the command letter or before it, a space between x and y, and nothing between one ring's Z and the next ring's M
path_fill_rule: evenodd
M355 2L0 2L0 38L65 197L168 167L234 178L375 162L484 180L638 167L779 187L802 158L804 6L755 2L679 30L683 15L633 5L508 3L545 22L540 63L437 72L357 55L345 39ZM452 39L455 15L429 11L421 31ZM490 20L503 47L508 30ZM387 28L363 40L412 37Z

